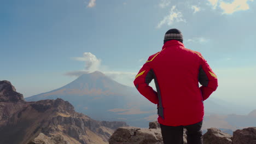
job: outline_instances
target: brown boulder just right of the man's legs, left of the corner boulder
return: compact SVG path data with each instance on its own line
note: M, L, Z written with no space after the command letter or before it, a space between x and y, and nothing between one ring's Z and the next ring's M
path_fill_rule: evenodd
M232 144L232 136L223 133L217 128L207 129L207 132L203 135L204 144Z

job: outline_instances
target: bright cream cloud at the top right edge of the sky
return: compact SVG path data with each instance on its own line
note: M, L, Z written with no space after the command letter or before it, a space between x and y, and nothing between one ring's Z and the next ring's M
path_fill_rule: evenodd
M224 10L223 14L232 14L235 11L248 10L248 1L253 0L234 0L232 3L220 2L219 7Z

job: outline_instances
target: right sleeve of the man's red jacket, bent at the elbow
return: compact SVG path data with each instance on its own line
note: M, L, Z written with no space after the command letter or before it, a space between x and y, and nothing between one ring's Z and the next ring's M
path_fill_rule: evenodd
M216 74L213 73L212 69L208 65L207 61L202 57L201 53L201 65L199 69L199 82L202 85L200 87L202 98L206 100L212 92L216 91L218 87L218 80Z

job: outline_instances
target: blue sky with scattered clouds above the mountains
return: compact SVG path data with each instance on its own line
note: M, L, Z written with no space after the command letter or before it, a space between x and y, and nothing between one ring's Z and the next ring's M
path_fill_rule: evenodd
M133 86L177 28L218 76L211 97L254 107L255 9L253 0L0 0L0 80L24 97L95 70Z

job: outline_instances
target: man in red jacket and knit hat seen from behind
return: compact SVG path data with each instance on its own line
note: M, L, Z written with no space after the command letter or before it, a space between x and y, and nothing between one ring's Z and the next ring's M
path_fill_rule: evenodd
M157 92L149 86L153 79ZM184 47L181 31L174 28L165 33L162 50L148 58L134 84L158 105L165 144L183 143L183 128L188 144L202 143L203 100L216 91L217 76L200 52Z

